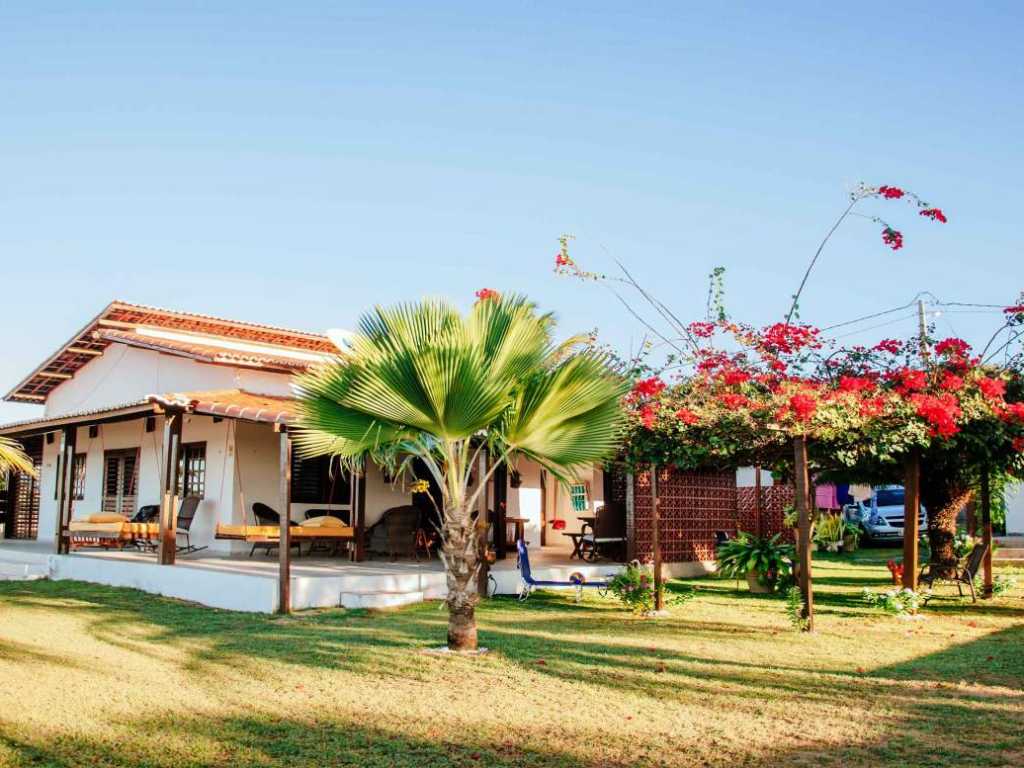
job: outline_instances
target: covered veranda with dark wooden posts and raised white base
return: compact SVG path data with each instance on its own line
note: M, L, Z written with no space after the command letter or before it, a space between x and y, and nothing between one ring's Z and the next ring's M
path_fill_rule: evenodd
M8 427L5 432L18 439L49 442L44 446L48 452L44 451L40 462L39 495L44 500L40 509L44 523L40 526L41 539L4 541L3 557L36 562L56 579L135 587L240 610L289 611L337 605L386 607L443 597L446 585L436 554L423 552L418 559L408 561L392 560L387 555L383 561L370 559L366 547L368 512L373 521L384 508L402 500L409 503L408 493L402 499L388 496L391 492L385 484L387 478L378 476L381 474L378 468L348 478L347 497L336 500L339 503L331 510L344 518L345 525L337 531L344 542L342 551L335 550L337 554L331 556L324 548L311 553L311 545L303 545L301 557L297 556L291 545L300 538L296 531L301 528L286 521L301 518L311 511L310 507L323 505L295 500L295 462L289 434L289 425L294 420L292 404L288 398L241 391L170 393L102 412ZM95 494L90 496L89 492L76 487L86 482L76 476L75 468L81 466L76 457L93 453L104 457L112 444L121 444L114 441L118 430L134 435L130 439L136 444L141 441L143 447L152 443L150 454L138 455L139 478L129 488L128 496L132 498L130 507L125 508L135 512L142 502L159 504L152 536L143 537L150 541L141 543L75 546L81 543L82 535L72 530L72 521L92 507L104 508L106 501L105 496L97 501ZM182 552L180 546L184 541L179 532L178 512L185 496L181 482L181 473L186 469L184 452L201 436L209 440L207 499L195 522L190 522L190 543L197 546L197 551ZM223 440L222 449L214 445L219 439ZM90 445L93 442L97 444ZM258 462L254 458L257 454ZM221 464L219 468L215 466L217 462ZM90 477L98 466L105 466L96 461L84 464L82 471ZM371 476L369 499L368 475ZM93 479L100 482L99 478ZM215 482L219 490L211 489L216 487ZM493 540L488 546L496 558L492 568L499 593L514 593L519 582L506 535L515 524L505 519L507 483L506 471L499 468L486 498L481 498L480 509L492 520ZM289 515L281 516L275 530L256 525L250 512L257 500L275 509L289 510ZM244 531L241 540L236 537L236 541L225 541L220 536L224 529L238 532L240 527ZM252 556L251 544L255 540L265 546ZM589 577L596 578L608 569L601 563L571 559L570 550L564 547L537 544L541 543L536 542L531 551L535 569L546 570L551 579L564 580L575 571L587 571Z

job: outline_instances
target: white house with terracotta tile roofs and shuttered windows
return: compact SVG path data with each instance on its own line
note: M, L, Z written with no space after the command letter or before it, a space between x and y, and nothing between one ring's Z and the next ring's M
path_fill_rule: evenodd
M282 432L293 419L291 377L335 351L322 334L111 303L5 397L42 404L44 412L0 426L39 469L38 480L10 478L0 508L4 536L52 542L57 553L110 544L73 530L73 521L100 513L132 518L162 504L176 509L191 496L201 501L188 543L207 554L248 555L254 537L224 534L255 528L258 504L287 509L296 522L310 513L341 518L351 528L352 558L364 559L364 531L385 511L419 506L427 515L431 505L378 467L353 481L327 459L283 454ZM175 455L178 461L169 461ZM283 492L285 466L291 467L290 499ZM530 463L512 469L499 473L488 492L499 557L508 554L506 535L517 526L531 546L567 552L568 540L552 522L566 520L566 529L579 530L577 518L594 514L604 499L600 469L571 488ZM175 474L175 487L165 495ZM429 521L424 526L429 532ZM166 519L163 530L168 536Z

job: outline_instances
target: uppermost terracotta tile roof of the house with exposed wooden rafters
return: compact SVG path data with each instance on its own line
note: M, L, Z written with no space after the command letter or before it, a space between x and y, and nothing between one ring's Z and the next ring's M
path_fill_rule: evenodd
M323 334L114 301L11 389L4 399L15 402L44 402L53 389L72 378L79 369L102 354L103 350L114 343L112 338L104 337L102 333L97 335L97 332L134 332L140 326L217 336L238 342L287 347L316 354L337 352L331 340ZM270 353L268 356L273 357L273 354ZM241 362L242 358L238 357L236 361ZM282 368L288 367L282 366Z

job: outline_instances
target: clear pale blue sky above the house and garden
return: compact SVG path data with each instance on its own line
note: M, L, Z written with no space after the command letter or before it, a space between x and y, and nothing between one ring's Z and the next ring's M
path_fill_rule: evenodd
M113 298L322 330L487 286L636 343L551 273L563 231L687 318L724 265L766 323L860 179L949 224L877 207L894 254L850 222L805 319L1016 296L1019 3L701 5L4 3L0 388Z

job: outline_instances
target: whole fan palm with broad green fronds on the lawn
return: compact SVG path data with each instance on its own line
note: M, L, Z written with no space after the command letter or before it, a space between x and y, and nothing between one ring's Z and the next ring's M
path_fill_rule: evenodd
M625 391L579 338L553 343L551 314L521 296L484 297L466 316L440 300L377 307L333 361L295 383L300 455L352 468L369 458L396 476L419 459L440 487L453 650L476 648L475 510L495 467L525 458L568 481L607 459ZM493 461L481 470L484 450Z

